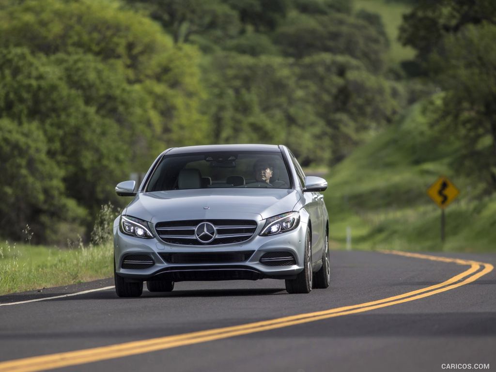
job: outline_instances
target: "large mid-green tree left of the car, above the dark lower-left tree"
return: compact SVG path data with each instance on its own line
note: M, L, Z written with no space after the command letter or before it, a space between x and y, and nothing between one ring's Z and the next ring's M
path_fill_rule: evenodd
M19 123L39 123L50 139L48 155L64 170L68 194L82 205L99 208L112 197L107 185L136 165L124 166L128 157L143 160L133 144L147 138L139 124L148 98L118 70L90 55L47 58L12 48L0 53L0 76L0 91L7 92L0 112Z

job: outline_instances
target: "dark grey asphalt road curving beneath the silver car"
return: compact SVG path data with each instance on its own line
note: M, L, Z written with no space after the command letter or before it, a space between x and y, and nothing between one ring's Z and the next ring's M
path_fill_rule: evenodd
M496 265L495 254L433 255ZM132 343L122 356L94 361L113 352L95 349L85 352L82 364L61 370L444 371L445 364L460 364L457 371L469 370L463 364L496 370L496 278L495 270L488 272L490 265L365 251L332 251L331 261L331 286L309 295L289 295L284 281L265 279L181 282L172 293L145 289L138 299L120 299L107 289L0 306L0 371L16 366L25 371L5 361L153 338L162 338L156 351L147 346L141 352L141 344ZM0 304L111 285L105 279L14 294L0 297ZM407 295L398 300L402 294ZM332 310L369 302L379 306ZM248 325L242 327L248 329L245 334L215 336L224 332L219 328L306 313L312 314L289 318L304 319L299 324L286 319L272 329ZM210 339L194 333L183 346L171 341L174 337L164 339L212 329L206 332L214 335ZM75 356L57 358L71 361ZM54 366L43 360L32 363L38 370Z

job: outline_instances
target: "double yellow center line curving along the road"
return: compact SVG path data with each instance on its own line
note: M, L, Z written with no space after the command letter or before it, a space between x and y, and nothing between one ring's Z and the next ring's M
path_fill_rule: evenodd
M240 336L249 333L262 332L270 329L288 327L291 325L308 323L311 321L332 318L336 316L355 314L374 309L393 306L409 301L419 300L424 297L433 296L437 293L449 291L451 289L472 283L483 275L493 270L493 265L489 263L463 260L458 258L447 258L419 253L408 253L400 251L386 251L382 253L398 254L407 257L429 259L433 261L457 263L469 265L464 272L452 278L416 291L407 292L401 295L388 297L385 299L371 301L363 304L345 306L341 308L308 312L304 314L285 316L271 320L258 321L241 324L232 327L209 329L205 331L190 332L174 336L158 337L141 341L125 342L122 344L96 347L92 349L69 351L64 353L50 354L39 357L16 359L0 363L0 372L32 372L43 371L54 368L80 365L97 362L107 359L121 358L130 355L149 353L157 350L165 350L178 346L198 344L201 342L219 340L228 337Z

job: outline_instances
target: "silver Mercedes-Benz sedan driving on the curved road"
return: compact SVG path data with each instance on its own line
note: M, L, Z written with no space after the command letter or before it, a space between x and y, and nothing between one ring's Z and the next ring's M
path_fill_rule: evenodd
M117 295L170 292L175 282L284 279L289 293L330 280L327 182L305 177L286 146L170 148L114 222Z

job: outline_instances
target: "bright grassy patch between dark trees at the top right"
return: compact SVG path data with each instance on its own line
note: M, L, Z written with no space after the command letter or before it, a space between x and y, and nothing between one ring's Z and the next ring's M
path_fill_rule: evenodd
M391 63L395 64L413 59L415 50L410 47L404 47L398 41L399 26L403 20L402 15L410 10L408 4L390 0L355 0L355 9L364 9L381 15L386 34L391 43L389 50L389 61Z

